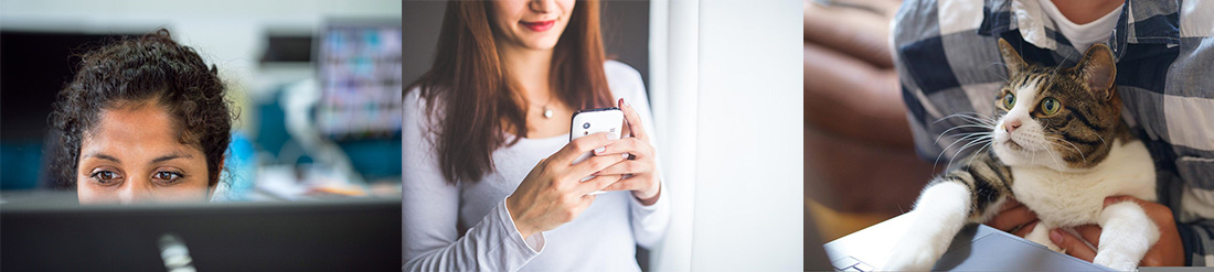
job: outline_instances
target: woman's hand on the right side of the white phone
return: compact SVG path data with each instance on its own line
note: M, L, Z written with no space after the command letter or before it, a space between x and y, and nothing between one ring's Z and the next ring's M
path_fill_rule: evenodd
M654 155L657 151L649 145L649 134L645 132L641 123L641 115L636 114L632 105L624 99L618 102L619 109L624 111L624 135L631 133L632 137L617 140L607 145L602 151L595 150L595 157L630 157L628 161L615 163L599 172L597 175L622 175L624 179L603 189L606 191L632 191L632 196L641 201L641 204L651 206L658 202L662 192L662 183L658 181L658 167ZM605 156L619 155L619 156Z

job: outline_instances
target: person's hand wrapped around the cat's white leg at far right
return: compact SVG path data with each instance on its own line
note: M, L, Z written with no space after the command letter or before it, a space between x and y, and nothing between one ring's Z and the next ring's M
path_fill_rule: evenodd
M1172 209L1167 206L1142 201L1129 196L1114 196L1105 198L1105 207L1125 201L1133 201L1142 207L1147 218L1159 227L1159 242L1156 242L1142 256L1141 266L1185 266L1185 245L1180 242L1180 233L1176 232L1176 222L1172 218ZM1088 248L1083 241L1091 245L1100 247L1100 226L1083 225L1074 228L1083 238L1074 237L1062 230L1050 230L1050 241L1059 248L1066 249L1071 256L1091 261L1096 257L1096 251Z

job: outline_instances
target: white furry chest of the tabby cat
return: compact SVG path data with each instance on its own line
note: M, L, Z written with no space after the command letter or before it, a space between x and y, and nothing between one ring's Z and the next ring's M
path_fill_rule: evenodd
M1045 224L1057 227L1094 224L1104 210L1105 197L1157 198L1155 166L1140 141L1116 147L1096 169L1062 173L1044 167L1014 167L1011 190Z

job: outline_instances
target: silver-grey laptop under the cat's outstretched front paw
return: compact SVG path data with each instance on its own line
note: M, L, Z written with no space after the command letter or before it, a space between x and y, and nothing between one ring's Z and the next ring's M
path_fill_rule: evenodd
M880 271L906 233L906 214L823 245L836 271ZM1061 254L986 225L969 225L953 238L932 271L1113 271Z

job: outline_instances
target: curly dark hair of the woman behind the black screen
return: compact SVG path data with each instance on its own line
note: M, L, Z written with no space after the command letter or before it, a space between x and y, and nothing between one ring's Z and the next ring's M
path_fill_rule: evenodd
M172 41L166 29L79 57L75 77L59 91L50 116L52 133L61 140L51 166L51 173L59 175L56 187L75 189L80 144L97 125L101 110L143 102L154 102L172 116L180 141L206 156L208 185L219 183L236 115L215 65L208 66L193 48Z

